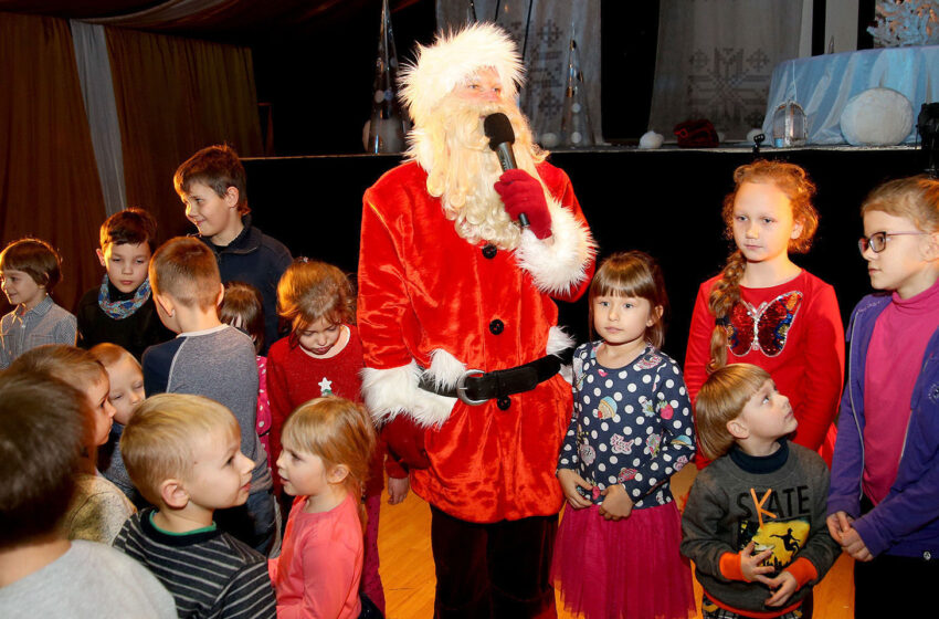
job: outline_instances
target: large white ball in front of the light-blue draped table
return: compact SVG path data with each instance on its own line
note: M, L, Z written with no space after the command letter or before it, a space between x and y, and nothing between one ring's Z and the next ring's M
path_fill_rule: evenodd
M912 105L891 88L869 88L847 102L841 133L853 146L894 146L912 129Z

